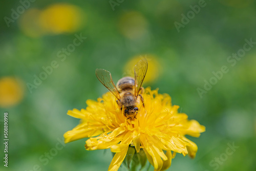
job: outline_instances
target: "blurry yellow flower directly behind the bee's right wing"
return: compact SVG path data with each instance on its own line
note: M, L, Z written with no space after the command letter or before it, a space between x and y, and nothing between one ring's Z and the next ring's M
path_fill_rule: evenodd
M144 79L144 83L153 82L155 81L159 75L161 74L161 66L159 61L154 55L137 55L134 56L132 59L130 59L124 66L124 75L123 76L131 76L134 77L134 66L136 63L142 59L143 57L146 57L148 62L148 69L147 73Z

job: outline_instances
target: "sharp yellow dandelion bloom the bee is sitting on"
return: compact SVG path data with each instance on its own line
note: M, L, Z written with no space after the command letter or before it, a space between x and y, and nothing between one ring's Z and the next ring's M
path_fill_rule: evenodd
M90 137L85 145L87 150L110 148L116 154L109 170L118 170L130 145L137 153L142 149L155 170L167 169L176 153L194 158L197 145L185 135L199 137L205 127L178 113L179 106L172 105L167 94L146 88L142 96L144 107L139 104L137 119L133 121L125 118L111 92L97 101L87 100L86 110L68 111L81 122L65 133L65 142Z

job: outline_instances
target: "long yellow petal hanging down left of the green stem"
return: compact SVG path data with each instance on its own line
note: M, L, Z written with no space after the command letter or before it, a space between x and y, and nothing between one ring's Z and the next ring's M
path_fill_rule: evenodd
M113 157L110 166L109 166L109 171L117 171L120 165L122 164L127 150L128 150L129 145L127 145L120 153L116 153L115 156Z

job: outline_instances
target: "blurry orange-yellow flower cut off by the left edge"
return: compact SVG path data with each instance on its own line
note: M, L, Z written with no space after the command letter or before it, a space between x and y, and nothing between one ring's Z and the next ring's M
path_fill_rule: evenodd
M14 77L0 79L0 107L8 108L20 102L24 97L24 83Z

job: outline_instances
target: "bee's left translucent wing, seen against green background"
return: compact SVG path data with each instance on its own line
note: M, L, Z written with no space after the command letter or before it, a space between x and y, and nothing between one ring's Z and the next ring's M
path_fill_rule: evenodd
M118 100L120 99L119 92L116 89L115 83L111 77L111 73L109 71L103 69L96 69L95 71L96 77L99 81L107 88L111 93L113 93Z

